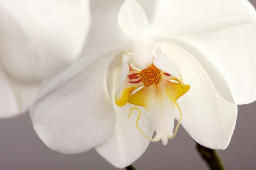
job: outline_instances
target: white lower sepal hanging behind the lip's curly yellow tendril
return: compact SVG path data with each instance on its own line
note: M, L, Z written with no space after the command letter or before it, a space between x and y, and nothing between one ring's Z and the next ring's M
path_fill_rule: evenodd
M107 74L108 92L117 114L115 129L105 143L95 148L103 158L117 168L124 168L136 161L145 152L150 142L136 127L135 122L138 117L138 112L132 111L132 115L130 119L128 119L127 114L130 114L130 109L134 107L134 105L129 103L123 107L115 105L114 96L119 86L121 61L122 56L115 58ZM141 110L138 125L146 135L151 137L154 128L150 116L145 108L138 108Z

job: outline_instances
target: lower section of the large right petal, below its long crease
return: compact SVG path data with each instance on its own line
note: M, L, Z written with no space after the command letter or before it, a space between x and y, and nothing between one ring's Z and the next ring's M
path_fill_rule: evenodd
M172 42L200 62L222 97L231 102L234 98L236 104L256 100L256 24L177 36Z

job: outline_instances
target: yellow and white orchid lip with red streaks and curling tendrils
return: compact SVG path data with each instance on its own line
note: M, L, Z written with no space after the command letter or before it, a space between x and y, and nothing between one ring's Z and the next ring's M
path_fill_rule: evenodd
M130 118L133 110L139 111L139 116L136 121L136 126L139 132L150 141L157 142L162 140L162 143L166 145L168 139L173 139L177 133L182 118L182 112L176 101L189 90L190 86L183 83L179 69L177 69L177 63L174 63L175 61L164 55L162 50L160 50L160 52L159 49L157 50L158 54L155 57L155 59L157 58L156 62L153 60L150 66L142 70L133 68L130 65L130 62L123 59L123 67L128 70L121 71L123 73L126 72L126 74L121 74L120 80L124 81L120 81L121 84L115 94L115 103L119 107L123 107L126 103L135 105L135 107L130 109L130 114L127 116ZM127 58L127 56L125 58ZM133 58L133 54L131 54L130 58ZM132 62L132 60L129 61ZM162 64L161 62L165 63ZM171 74L169 71L170 69L166 67L166 62L167 64L171 63L169 65L175 67L171 70L174 70L174 74L179 75L179 77ZM155 63L167 72L156 67ZM141 89L137 90L138 88ZM144 113L141 113L136 106L146 108L151 115L156 132L154 138L146 136L146 134L139 128L138 121L140 115ZM173 131L175 107L180 111L180 119Z

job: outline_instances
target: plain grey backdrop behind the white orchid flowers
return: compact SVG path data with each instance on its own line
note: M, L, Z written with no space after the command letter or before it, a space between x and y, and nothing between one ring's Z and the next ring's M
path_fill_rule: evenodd
M256 0L250 0L256 7ZM255 56L256 57L256 56ZM219 153L229 170L256 169L256 102L238 106L231 143ZM168 145L151 142L135 161L138 170L207 170L195 142L181 127ZM29 114L0 120L0 170L117 170L94 149L82 154L60 154L47 148L34 132Z

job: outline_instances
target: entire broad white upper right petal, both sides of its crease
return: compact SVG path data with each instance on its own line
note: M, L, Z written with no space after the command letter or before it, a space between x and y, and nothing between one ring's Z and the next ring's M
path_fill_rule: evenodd
M149 35L188 50L223 98L246 104L256 99L255 22L255 9L246 0L163 0L157 1ZM245 80L236 81L241 74Z

